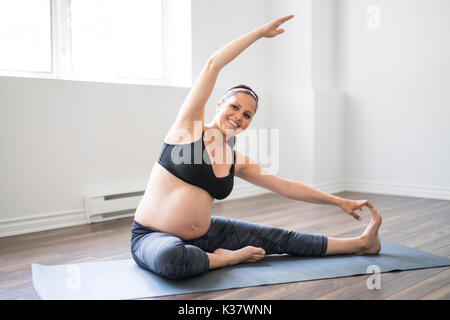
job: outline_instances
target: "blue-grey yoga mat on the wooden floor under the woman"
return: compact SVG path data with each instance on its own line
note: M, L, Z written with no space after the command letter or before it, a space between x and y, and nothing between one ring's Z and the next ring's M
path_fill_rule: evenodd
M136 265L132 259L68 265L31 265L33 286L40 299L138 299L267 284L347 277L450 265L450 259L381 240L377 256L266 256L211 270L185 280L167 280ZM371 267L372 266L372 267ZM375 267L373 267L375 266Z

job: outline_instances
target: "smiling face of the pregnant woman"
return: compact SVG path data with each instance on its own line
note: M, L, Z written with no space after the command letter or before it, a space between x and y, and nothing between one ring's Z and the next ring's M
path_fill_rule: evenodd
M222 132L236 135L248 128L256 112L256 101L248 94L238 92L217 104L214 119Z

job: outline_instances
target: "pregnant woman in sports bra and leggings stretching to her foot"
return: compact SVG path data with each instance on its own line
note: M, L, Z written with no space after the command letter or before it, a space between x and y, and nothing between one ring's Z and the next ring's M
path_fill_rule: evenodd
M293 15L275 19L226 44L203 67L167 133L148 186L136 210L131 253L136 263L170 279L210 269L256 262L266 254L325 256L377 254L381 216L367 200L349 200L270 174L234 150L235 136L248 128L258 110L258 95L248 86L228 90L211 123L204 108L219 72L252 43L284 32ZM200 156L198 156L200 155ZM332 238L272 226L211 216L215 199L226 198L234 177L289 199L333 204L360 220L356 210L368 207L372 219L355 238Z

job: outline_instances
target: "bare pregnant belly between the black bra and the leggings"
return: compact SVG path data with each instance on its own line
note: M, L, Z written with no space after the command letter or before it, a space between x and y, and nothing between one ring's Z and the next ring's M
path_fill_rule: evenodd
M209 229L213 201L208 192L178 179L156 163L135 220L184 240L196 239Z

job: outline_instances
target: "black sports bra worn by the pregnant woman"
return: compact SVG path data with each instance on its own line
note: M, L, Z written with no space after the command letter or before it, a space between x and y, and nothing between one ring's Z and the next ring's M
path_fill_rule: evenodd
M205 148L204 133L199 140L186 144L163 143L158 163L177 178L206 190L213 198L225 199L233 190L234 164L236 153L233 150L233 164L226 177L217 178ZM227 144L234 149L235 137Z

